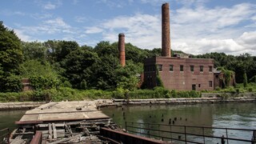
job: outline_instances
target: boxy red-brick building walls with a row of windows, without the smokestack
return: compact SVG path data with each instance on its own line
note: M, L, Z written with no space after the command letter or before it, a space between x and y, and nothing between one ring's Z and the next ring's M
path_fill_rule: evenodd
M214 59L154 57L144 62L144 85L157 86L157 74L168 90L214 90Z

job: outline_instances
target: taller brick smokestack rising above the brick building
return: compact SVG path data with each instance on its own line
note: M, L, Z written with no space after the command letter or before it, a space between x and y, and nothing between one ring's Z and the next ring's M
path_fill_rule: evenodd
M170 57L170 10L169 3L162 4L162 56Z

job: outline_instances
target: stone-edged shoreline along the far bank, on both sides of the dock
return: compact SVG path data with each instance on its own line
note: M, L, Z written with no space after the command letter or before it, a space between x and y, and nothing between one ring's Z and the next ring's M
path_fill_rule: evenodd
M214 103L252 103L256 97L238 98L151 98L151 99L98 99L94 101L98 107L106 106L138 106L138 105L194 105ZM0 102L0 110L30 110L46 104L46 102Z

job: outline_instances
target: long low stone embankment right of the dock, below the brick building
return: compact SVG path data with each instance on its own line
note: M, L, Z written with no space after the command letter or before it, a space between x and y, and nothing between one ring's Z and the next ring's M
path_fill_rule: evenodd
M234 96L234 95L233 95ZM122 106L122 105L190 105L190 104L214 104L230 102L256 102L254 93L243 93L240 97L232 97L229 93L207 93L202 98L151 98L151 99L106 99L98 100L98 106Z

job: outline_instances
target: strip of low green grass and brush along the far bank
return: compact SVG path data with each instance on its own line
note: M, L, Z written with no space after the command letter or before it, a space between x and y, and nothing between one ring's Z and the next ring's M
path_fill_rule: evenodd
M155 87L154 90L76 90L70 87L59 87L50 90L30 90L20 93L0 93L0 102L40 102L40 101L82 101L98 98L200 98L201 93L256 93L256 83L251 82L246 87L243 84L229 86L226 89L217 88L214 91L179 91L166 90L163 87Z

